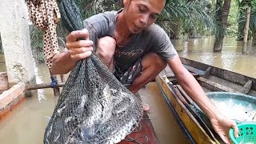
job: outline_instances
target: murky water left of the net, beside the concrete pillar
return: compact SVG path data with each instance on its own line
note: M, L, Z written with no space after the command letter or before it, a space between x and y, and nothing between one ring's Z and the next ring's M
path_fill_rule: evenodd
M38 83L50 82L48 68L44 64L36 67ZM54 111L58 97L53 90L37 90L31 98L26 98L17 109L0 122L1 144L41 144L45 127Z

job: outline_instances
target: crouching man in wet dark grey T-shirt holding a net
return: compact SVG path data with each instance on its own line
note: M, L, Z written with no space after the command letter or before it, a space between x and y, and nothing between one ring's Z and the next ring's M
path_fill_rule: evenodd
M68 73L76 62L90 57L94 47L102 62L135 94L168 64L182 88L210 118L214 130L229 143L230 127L238 135L235 122L222 115L210 102L202 87L182 66L167 34L154 24L165 2L124 0L123 10L87 18L85 30L73 31L66 37L68 51L54 55L52 73ZM86 40L77 41L81 37Z

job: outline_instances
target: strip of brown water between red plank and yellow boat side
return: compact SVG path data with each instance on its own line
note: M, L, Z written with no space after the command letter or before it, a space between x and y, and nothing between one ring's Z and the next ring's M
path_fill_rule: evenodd
M156 82L147 84L146 88L139 90L139 94L141 94L142 102L150 105L152 112L149 118L161 144L190 143L179 128L170 108L167 107Z

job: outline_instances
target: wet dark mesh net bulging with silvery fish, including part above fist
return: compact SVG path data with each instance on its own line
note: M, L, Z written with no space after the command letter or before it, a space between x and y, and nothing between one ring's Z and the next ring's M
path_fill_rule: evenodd
M59 6L68 29L82 30L74 1L62 0ZM71 71L46 126L44 143L117 143L141 118L141 100L93 53Z

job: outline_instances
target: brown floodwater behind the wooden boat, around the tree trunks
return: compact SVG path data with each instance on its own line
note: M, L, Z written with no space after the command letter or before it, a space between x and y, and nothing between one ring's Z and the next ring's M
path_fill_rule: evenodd
M250 42L247 46L248 54L242 54L242 42L234 38L224 39L222 53L213 53L214 38L211 37L172 42L181 57L256 78L256 47L251 46Z

